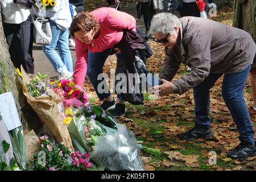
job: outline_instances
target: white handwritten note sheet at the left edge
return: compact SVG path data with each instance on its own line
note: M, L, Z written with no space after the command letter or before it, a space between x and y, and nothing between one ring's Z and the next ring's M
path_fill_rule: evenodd
M0 94L0 112L8 131L22 126L13 93L7 92Z

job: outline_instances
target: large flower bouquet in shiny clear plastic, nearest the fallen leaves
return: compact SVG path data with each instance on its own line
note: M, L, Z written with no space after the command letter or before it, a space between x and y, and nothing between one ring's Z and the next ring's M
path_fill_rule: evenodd
M101 109L84 108L69 123L75 150L89 152L90 159L109 170L144 170L134 133Z

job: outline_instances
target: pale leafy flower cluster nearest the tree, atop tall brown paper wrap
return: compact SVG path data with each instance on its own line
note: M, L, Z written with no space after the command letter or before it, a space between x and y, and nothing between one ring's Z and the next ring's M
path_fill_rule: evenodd
M43 81L47 75L43 77L38 72L38 75L33 77L28 84L26 84L28 92L31 94L32 97L39 97L43 94L47 94L46 92L46 82Z

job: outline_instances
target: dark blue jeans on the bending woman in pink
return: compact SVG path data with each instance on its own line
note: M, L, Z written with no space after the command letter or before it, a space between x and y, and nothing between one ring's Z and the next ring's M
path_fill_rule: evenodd
M98 92L98 85L101 83L102 81L104 82L103 85L107 85L106 84L106 80L98 80L97 77L99 74L103 73L102 69L104 67L105 61L108 58L109 54L110 54L111 49L106 49L105 51L102 52L90 52L88 51L88 63L87 63L87 73L86 75L88 76L90 82L92 83L94 89L96 90L97 96L98 98L102 101L104 100L104 98L109 97L111 94L109 92L108 88L105 88L104 90L107 90L107 92L104 93L100 93ZM118 59L118 55L117 55L117 59ZM118 94L117 98L121 101L124 101L123 98Z

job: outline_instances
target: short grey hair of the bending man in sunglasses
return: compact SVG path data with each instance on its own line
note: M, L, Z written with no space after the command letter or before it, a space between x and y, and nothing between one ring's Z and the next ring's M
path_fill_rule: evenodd
M151 20L151 34L174 34L174 28L181 27L181 22L177 16L171 13L159 13L153 16Z

